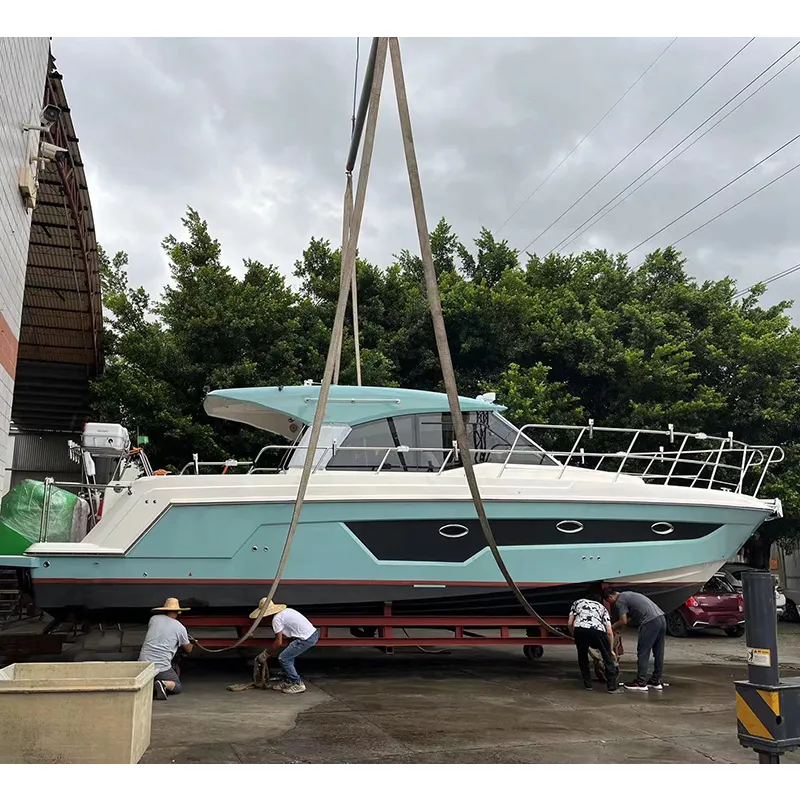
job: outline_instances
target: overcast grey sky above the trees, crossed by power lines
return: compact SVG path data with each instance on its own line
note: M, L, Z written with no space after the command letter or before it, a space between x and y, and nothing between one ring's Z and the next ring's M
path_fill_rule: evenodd
M481 226L500 228L670 41L402 39L430 226L444 216L465 242ZM528 245L746 42L678 39L500 237ZM793 44L756 39L530 249L549 252ZM369 45L361 40L362 73ZM180 236L187 205L208 220L235 271L253 258L289 274L310 237L339 242L355 39L55 39L52 48L98 240L130 254L134 283L157 292L168 279L160 242ZM797 55L800 47L709 125ZM360 246L381 265L417 247L390 70ZM658 231L800 133L798 96L800 62L570 249L624 252ZM800 139L631 261L798 162ZM745 288L799 263L798 186L800 169L682 242L690 272L730 274ZM767 297L800 298L800 272Z

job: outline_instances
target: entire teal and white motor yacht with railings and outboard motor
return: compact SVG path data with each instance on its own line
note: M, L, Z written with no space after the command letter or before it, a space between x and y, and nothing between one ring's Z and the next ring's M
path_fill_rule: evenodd
M179 474L156 474L133 463L127 442L112 436L103 451L84 435L84 461L120 455L108 484L84 486L94 498L88 533L48 541L44 530L0 565L16 567L57 620L145 619L167 595L192 613L249 612L278 567L319 390L306 382L206 396L211 417L285 440L248 462L195 456ZM566 615L599 582L669 612L782 516L780 500L758 496L779 447L671 426L518 428L493 394L460 404L494 536L542 615ZM565 437L561 449L542 444ZM420 617L524 616L484 539L453 439L445 394L332 386L280 602L318 615L369 616L391 604Z

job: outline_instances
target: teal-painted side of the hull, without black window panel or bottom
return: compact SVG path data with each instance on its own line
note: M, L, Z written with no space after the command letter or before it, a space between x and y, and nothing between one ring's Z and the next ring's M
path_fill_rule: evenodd
M493 520L520 518L669 520L702 522L716 530L702 538L502 547L521 583L583 583L725 561L752 535L759 511L644 504L487 503ZM259 503L173 506L125 555L48 557L36 577L53 579L269 579L275 574L292 505ZM311 503L304 507L284 578L305 581L501 580L488 549L463 563L379 561L341 522L475 519L468 502ZM648 523L649 524L649 523Z

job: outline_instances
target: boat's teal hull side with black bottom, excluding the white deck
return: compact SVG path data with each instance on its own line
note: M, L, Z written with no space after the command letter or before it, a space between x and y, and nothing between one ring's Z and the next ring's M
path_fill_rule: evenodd
M552 616L568 613L599 581L642 591L668 612L765 516L635 504L487 505L514 580ZM523 614L470 510L450 502L310 504L277 597L316 614L375 615L385 603L407 615ZM127 552L38 556L35 601L57 618L144 619L166 596L205 615L241 614L269 591L290 516L288 504L173 506ZM657 532L667 523L669 535Z

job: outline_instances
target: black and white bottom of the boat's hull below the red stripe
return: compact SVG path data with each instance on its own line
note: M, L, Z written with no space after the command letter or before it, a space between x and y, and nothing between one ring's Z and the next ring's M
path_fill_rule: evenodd
M612 584L633 589L654 600L665 612L683 603L702 586L720 563L700 564L678 573L621 578ZM539 614L562 617L589 587L582 584L521 584L525 597ZM37 605L59 619L141 622L166 595L176 596L191 615L241 616L253 610L269 591L268 581L214 580L36 580ZM425 584L397 581L284 581L282 603L309 615L379 616L386 603L395 615L516 616L526 613L502 582L491 584Z

